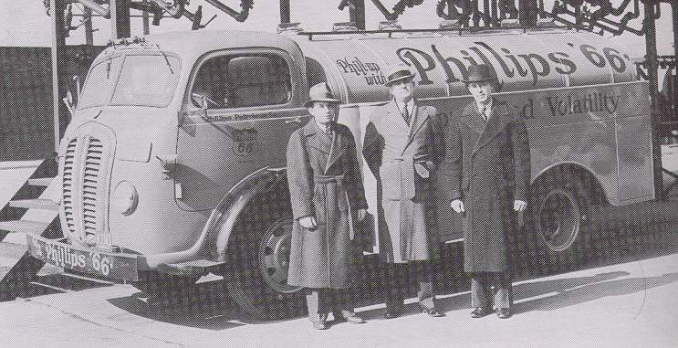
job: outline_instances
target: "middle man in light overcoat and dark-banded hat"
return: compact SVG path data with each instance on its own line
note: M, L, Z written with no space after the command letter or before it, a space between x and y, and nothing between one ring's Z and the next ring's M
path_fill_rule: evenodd
M393 99L370 115L362 151L381 195L378 230L385 262L384 317L402 313L402 280L412 272L419 281L422 311L439 317L443 313L435 308L428 264L437 252L431 218L437 111L414 100L414 75L406 66L390 66L386 76Z

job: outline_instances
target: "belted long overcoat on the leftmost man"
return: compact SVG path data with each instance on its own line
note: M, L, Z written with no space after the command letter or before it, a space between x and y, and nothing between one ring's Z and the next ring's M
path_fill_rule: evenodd
M367 208L367 202L353 135L342 124L336 124L332 133L330 139L311 119L287 143L287 181L294 215L290 285L344 289L357 278L362 252L351 240L352 214ZM318 227L301 227L298 219L303 216L316 216Z

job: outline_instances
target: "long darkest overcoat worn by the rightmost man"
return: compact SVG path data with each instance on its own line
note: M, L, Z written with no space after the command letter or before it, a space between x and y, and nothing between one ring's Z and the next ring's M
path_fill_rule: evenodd
M498 100L485 122L472 102L450 123L447 159L449 198L464 202L464 270L509 270L506 238L516 221L513 202L527 202L530 178L525 122Z

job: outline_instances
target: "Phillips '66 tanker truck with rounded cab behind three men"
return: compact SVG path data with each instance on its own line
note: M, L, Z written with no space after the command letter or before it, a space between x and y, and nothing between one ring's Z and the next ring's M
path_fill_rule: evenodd
M586 255L592 205L654 198L648 82L603 37L554 27L167 33L95 59L58 150L63 236L29 235L30 254L147 292L212 273L262 318L303 308L287 285L288 137L308 121L308 86L326 81L360 153L370 113L390 98L382 71L396 63L416 73L415 97L440 112L441 132L471 101L467 67L495 69L497 98L526 120L531 146L521 255ZM377 185L362 167L369 257L380 250ZM452 244L461 223L443 176L433 178L436 229Z

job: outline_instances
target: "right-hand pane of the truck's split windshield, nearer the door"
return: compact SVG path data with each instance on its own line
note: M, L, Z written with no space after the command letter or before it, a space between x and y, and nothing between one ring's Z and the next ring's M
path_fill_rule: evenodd
M173 56L127 56L110 104L167 106L174 96L179 72L179 59Z

